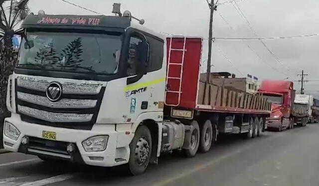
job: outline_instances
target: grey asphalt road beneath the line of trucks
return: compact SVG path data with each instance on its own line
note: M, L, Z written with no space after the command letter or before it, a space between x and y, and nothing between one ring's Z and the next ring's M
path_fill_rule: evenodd
M319 124L249 140L223 136L209 153L165 155L137 177L119 168L0 154L0 186L319 186Z

